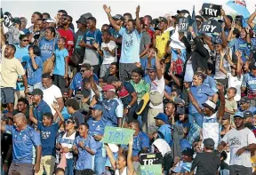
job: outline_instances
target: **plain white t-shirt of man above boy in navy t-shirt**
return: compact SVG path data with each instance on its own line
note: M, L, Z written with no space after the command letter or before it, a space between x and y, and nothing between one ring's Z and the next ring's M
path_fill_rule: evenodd
M44 101L51 107L52 115L55 115L55 110L52 108L53 101L56 101L56 99L62 98L62 93L60 91L60 88L54 84L50 88L45 89L42 88L42 91L44 92Z

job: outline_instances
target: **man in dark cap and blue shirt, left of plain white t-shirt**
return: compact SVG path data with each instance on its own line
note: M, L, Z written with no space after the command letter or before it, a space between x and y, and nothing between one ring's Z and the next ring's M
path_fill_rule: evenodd
M31 95L29 99L29 103L31 103L31 105L29 105L29 115L34 116L37 121L42 122L45 113L52 113L51 108L43 99L44 92L40 89L35 89L30 92L29 95Z

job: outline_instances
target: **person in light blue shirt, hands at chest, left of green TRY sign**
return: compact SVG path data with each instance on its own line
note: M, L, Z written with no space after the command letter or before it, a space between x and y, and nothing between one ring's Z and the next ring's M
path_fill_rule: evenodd
M76 137L72 147L73 152L78 155L76 162L76 174L82 174L84 169L94 169L94 158L97 152L95 139L89 136L89 125L81 123L79 125L79 136Z

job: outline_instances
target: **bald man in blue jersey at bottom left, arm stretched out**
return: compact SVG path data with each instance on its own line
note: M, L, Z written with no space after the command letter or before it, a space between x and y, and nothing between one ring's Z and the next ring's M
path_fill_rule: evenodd
M22 113L13 116L13 123L1 123L1 131L12 134L12 164L9 173L18 171L20 174L33 175L40 169L42 144L39 133L27 124L26 116ZM36 147L35 167L32 164L33 147Z

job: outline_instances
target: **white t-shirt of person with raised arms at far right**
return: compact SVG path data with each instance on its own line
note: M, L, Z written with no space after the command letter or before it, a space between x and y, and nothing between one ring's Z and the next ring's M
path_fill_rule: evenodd
M243 77L241 76L240 79L237 76L232 76L231 73L227 74L228 78L228 88L235 87L236 88L236 96L235 100L239 101L241 99L241 85L243 82Z

